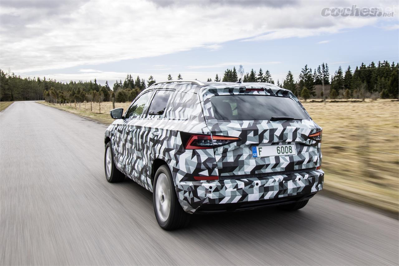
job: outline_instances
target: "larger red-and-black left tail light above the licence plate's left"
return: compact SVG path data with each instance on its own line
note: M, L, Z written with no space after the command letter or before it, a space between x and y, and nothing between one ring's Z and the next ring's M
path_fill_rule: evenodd
M211 135L189 135L182 133L182 140L188 139L185 149L195 150L195 149L212 149L220 147L226 144L230 144L238 141L240 138L237 137L225 137L225 136L211 136ZM183 142L184 143L184 142Z

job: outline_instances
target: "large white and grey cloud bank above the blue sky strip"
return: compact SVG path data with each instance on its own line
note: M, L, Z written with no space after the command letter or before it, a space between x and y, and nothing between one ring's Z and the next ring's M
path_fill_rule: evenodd
M217 50L231 40L328 35L377 21L320 15L336 2L169 2L1 1L0 67L16 73L62 69L194 48Z

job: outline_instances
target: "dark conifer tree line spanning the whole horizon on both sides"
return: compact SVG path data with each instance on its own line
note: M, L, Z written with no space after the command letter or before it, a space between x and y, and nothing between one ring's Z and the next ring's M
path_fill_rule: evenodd
M298 97L305 100L310 97L326 97L336 99L364 98L366 95L378 95L381 98L397 98L399 88L399 64L388 61L371 62L369 65L362 63L356 66L354 71L348 66L346 71L338 67L333 75L330 75L328 64L322 63L318 67L309 68L305 65L298 79L295 80L291 71L288 71L283 81L277 80L276 85L289 89ZM215 75L214 81L236 82L240 79L235 67L226 69L223 77ZM172 80L172 75L168 75ZM177 79L183 79L178 74ZM207 81L212 81L208 78ZM269 70L251 71L243 74L243 82L267 82L275 84ZM116 80L113 88L109 87L108 81L104 85L94 81L69 81L63 83L53 79L41 79L40 77L22 78L14 73L5 73L0 69L0 101L18 100L46 100L54 103L71 103L83 101L110 101L115 98L117 102L132 101L143 89L155 83L151 75L147 80L128 74L124 81ZM328 92L323 95L320 85L326 85ZM319 88L317 92L316 88ZM328 94L327 94L328 93Z

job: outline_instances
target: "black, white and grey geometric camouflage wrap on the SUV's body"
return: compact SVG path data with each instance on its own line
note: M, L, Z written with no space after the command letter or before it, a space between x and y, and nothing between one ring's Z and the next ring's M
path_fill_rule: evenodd
M302 107L290 91L272 84L205 83L205 86L199 86L170 83L152 86L140 95L158 89L163 90L162 93L171 93L162 117L146 117L144 110L139 118L114 121L105 132L106 141L111 140L117 168L152 191L153 162L156 159L166 162L179 202L190 213L202 204L274 199L321 190L324 172L315 170L321 163L320 143L307 137L321 128L310 116L308 120L274 122L223 122L213 118L210 97L239 93L240 87L263 87L265 91L251 93L290 97ZM151 97L147 106L150 101ZM181 132L228 135L241 140L215 149L186 150ZM295 144L297 154L253 158L251 145L259 143ZM219 176L220 180L195 181L194 176Z

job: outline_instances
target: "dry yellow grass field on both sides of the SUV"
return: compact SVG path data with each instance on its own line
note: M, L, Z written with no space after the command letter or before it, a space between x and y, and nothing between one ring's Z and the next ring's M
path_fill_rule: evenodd
M109 124L112 103L53 105ZM130 103L115 103L126 109ZM324 189L344 199L398 212L399 202L399 102L378 99L364 102L302 102L323 128L322 169Z

